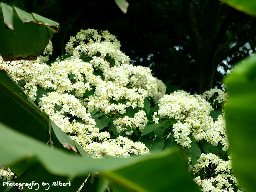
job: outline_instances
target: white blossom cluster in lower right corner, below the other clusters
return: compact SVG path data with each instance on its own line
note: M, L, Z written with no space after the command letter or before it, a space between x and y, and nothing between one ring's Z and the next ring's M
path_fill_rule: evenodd
M224 161L212 153L201 154L194 166L189 158L188 170L197 175L194 180L203 192L243 191L237 189L237 179L232 174L231 161Z

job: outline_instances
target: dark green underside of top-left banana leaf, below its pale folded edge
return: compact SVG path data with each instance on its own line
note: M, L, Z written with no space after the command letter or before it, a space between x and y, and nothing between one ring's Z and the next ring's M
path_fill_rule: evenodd
M49 43L49 32L43 25L22 23L18 15L13 14L15 31L6 29L0 20L0 52L4 60L35 60Z

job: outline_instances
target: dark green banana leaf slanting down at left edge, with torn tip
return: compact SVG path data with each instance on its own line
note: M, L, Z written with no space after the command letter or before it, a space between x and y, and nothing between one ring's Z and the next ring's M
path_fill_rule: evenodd
M49 121L48 115L27 98L19 85L4 70L0 71L0 97L0 121L2 123L37 140L45 143L50 141L54 147L62 148L62 145L67 143L71 143L72 146L75 145L74 141L62 132L56 124ZM60 133L56 134L58 139L55 134L51 134L52 126L54 126L55 134L60 130ZM68 137L69 142L63 141L63 137Z

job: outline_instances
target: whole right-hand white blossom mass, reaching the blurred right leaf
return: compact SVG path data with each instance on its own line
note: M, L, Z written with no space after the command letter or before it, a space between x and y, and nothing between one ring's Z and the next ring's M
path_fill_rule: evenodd
M223 91L222 91L223 92ZM158 124L159 118L167 118L172 124L172 132L177 144L191 147L191 137L194 141L206 140L212 146L219 142L223 150L228 149L227 133L224 114L213 121L210 112L211 104L204 96L190 95L185 91L164 95L158 104L159 110L154 113L153 120Z

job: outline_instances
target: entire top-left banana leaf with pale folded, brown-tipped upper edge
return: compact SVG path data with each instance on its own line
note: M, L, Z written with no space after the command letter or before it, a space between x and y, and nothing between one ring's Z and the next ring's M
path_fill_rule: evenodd
M4 60L35 60L59 23L0 3L0 53Z

